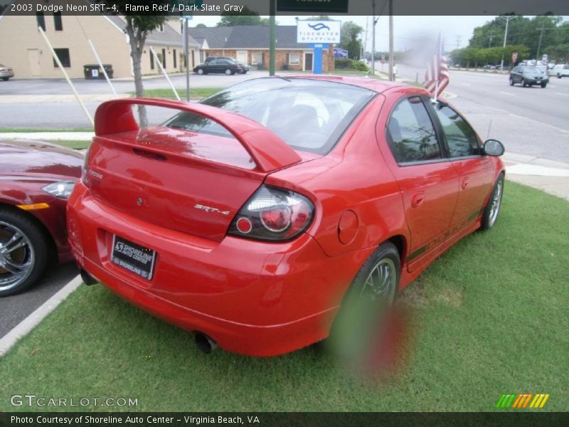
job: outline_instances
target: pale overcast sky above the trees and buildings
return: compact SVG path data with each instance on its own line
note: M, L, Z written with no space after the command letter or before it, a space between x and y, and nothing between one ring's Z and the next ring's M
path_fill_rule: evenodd
M263 16L264 18L266 16ZM206 26L215 26L219 16L194 16L189 22L191 27L198 23ZM366 38L367 21L367 47L371 51L371 16L334 16L339 21L353 21L363 28L362 40ZM472 31L477 26L494 19L494 16L394 16L393 17L393 43L395 51L405 51L420 46L425 39L437 38L439 31L445 43L445 51L468 46ZM277 16L279 25L296 25L294 16ZM389 19L381 16L376 23L376 51L389 50Z

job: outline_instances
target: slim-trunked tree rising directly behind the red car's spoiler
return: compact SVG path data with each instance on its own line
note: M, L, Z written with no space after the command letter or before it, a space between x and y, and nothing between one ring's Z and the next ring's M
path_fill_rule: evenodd
M116 5L118 15L124 16L127 26L124 28L129 38L130 57L132 58L132 71L134 73L134 89L137 97L144 96L144 86L142 85L142 52L144 51L144 43L151 31L159 26L164 25L166 21L166 12L156 15L134 15L127 11L127 4L130 6L132 2L129 0L112 0L110 6ZM167 5L169 0L154 0L154 4ZM144 105L138 105L139 122L141 127L148 124L147 110Z

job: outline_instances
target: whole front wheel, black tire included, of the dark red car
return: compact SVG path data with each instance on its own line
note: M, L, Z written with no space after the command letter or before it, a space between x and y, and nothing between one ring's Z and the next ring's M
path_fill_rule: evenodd
M48 263L48 243L43 229L26 214L0 209L0 244L0 297L6 297L41 277Z

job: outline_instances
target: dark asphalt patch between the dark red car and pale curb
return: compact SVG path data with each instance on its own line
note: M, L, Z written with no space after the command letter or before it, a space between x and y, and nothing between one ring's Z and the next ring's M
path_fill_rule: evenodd
M0 298L0 338L78 275L75 263L54 266L33 288Z

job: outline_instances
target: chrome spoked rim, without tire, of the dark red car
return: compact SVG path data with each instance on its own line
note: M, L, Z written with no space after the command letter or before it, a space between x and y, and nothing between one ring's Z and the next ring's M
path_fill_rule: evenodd
M0 292L23 283L31 275L35 262L33 246L23 231L0 221Z

